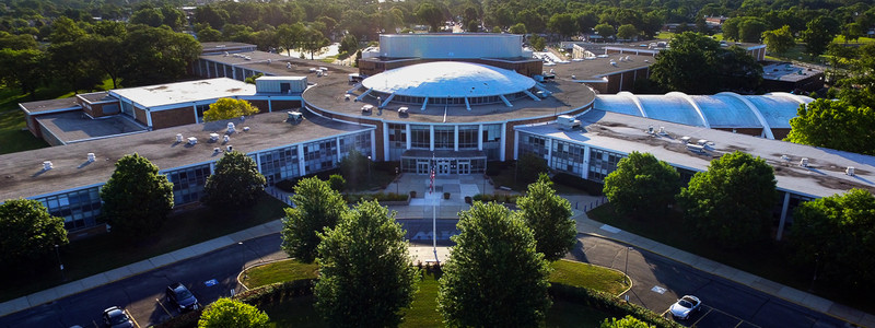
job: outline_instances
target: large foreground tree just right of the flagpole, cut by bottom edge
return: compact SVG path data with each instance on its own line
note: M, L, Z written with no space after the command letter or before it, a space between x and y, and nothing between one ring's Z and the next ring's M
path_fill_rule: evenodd
M550 307L549 266L532 230L498 203L459 212L439 281L438 311L454 327L538 327Z

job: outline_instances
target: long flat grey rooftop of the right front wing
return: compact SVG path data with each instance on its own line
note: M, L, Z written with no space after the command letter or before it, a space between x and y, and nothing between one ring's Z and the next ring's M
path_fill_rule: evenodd
M560 130L555 124L517 130L575 140L619 153L648 152L674 166L693 171L707 171L711 160L738 150L759 156L772 165L778 188L782 190L810 197L828 197L851 188L875 191L873 156L597 109L590 110L579 119L583 125L582 130ZM646 133L650 126L665 127L665 136ZM709 147L702 154L691 152L680 141L685 136L690 137L693 143L708 140ZM803 157L808 159L807 167L798 165ZM855 176L844 174L848 166L854 167Z

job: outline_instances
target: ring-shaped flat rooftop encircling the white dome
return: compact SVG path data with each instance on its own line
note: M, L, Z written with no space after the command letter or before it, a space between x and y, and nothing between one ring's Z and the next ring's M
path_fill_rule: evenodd
M595 99L595 93L590 87L572 82L570 77L563 75L557 77L551 82L544 83L544 86L552 95L539 102L530 97L515 99L511 102L513 107L499 103L472 105L471 110L468 110L465 105L428 105L425 110L421 110L421 104L389 103L384 110L377 110L376 99L371 96L365 96L360 102L352 101L365 90L355 87L353 83L350 83L347 74L331 74L329 70L328 77L317 78L313 75L307 78L307 82L316 84L304 91L303 97L307 104L322 110L347 117L362 117L387 122L504 122L508 120L553 116L587 106ZM350 99L347 101L345 95L350 90L352 90L352 93L350 94ZM368 104L373 105L374 110L370 114L363 114L361 108ZM397 109L399 107L408 107L408 115L398 114Z

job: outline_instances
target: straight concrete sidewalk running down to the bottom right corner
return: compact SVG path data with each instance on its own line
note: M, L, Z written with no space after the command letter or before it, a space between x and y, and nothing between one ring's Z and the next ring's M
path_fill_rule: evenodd
M598 203L598 200L587 203L588 208L597 204L600 204ZM572 202L572 207L573 206L574 202ZM583 202L581 202L581 207L583 207ZM651 253L686 263L696 269L748 285L763 293L796 303L820 313L828 314L851 324L859 325L861 327L875 327L875 316L871 314L591 220L588 216L586 216L586 213L583 212L582 209L574 210L573 219L578 223L579 233L615 239L632 245L635 248L646 249Z

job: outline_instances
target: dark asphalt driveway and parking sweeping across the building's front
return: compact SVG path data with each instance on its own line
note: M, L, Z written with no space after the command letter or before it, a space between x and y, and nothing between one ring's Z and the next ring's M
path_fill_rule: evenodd
M431 220L399 220L415 244L432 243ZM438 220L438 244L448 246L457 234L455 220ZM844 321L795 305L684 263L629 248L617 242L580 235L568 258L626 271L633 286L621 297L664 314L680 296L692 294L702 308L685 326L697 327L848 327ZM281 238L272 234L218 249L206 256L180 261L136 277L103 285L73 296L0 317L0 327L97 327L104 308L118 305L140 327L161 323L178 315L164 295L166 285L183 282L201 304L238 292L237 273L246 263L285 258ZM206 282L215 280L215 284Z

